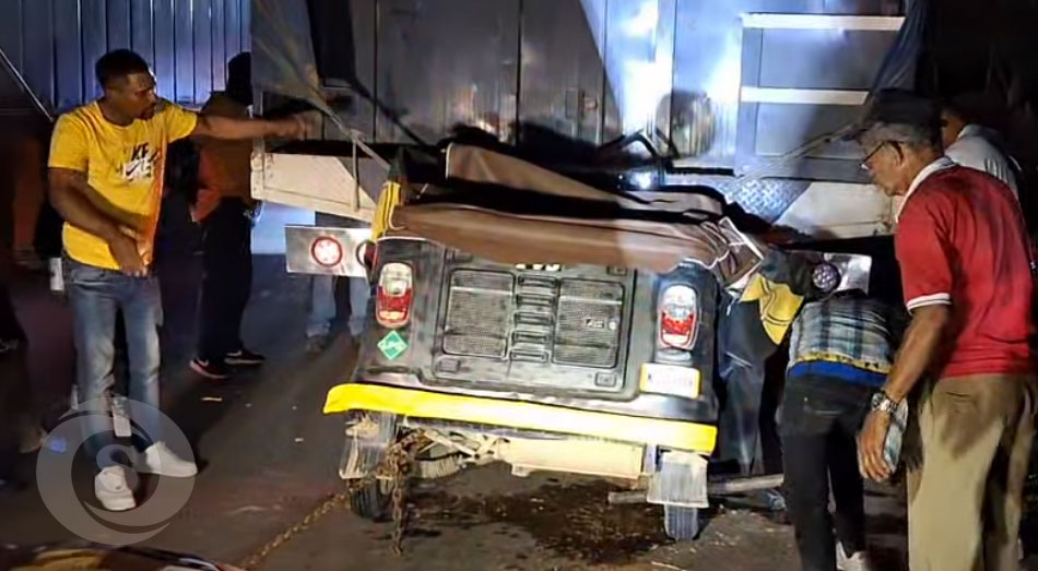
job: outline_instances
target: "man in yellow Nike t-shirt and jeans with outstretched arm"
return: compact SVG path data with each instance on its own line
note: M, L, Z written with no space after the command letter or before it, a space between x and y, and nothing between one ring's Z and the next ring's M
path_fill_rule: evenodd
M158 412L162 302L150 266L166 147L189 135L297 138L305 126L298 118L200 118L160 99L148 63L130 50L103 56L96 74L104 95L58 119L48 162L50 201L66 221L80 397L86 409L108 411L115 320L121 310L130 361L128 412L149 444L135 465L191 477L194 462L178 457L164 443ZM95 435L92 443L102 452L94 491L106 509L129 510L135 502L125 468L109 452L115 449L110 418L92 414L83 420L84 433ZM137 457L135 451L128 452Z

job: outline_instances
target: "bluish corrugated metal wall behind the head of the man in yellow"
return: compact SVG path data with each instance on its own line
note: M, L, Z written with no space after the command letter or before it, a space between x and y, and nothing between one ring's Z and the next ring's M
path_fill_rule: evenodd
M0 0L0 49L36 95L63 111L101 94L94 62L131 48L158 94L201 105L226 61L249 49L250 0Z

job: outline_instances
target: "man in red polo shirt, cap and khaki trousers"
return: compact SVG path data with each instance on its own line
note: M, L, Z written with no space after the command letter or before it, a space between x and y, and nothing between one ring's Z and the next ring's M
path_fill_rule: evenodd
M922 462L909 473L913 571L1018 569L1022 492L1035 435L1023 214L1005 183L943 156L936 106L881 92L859 136L863 166L903 197L895 248L911 324L861 433L866 476L883 480L890 415L916 406Z

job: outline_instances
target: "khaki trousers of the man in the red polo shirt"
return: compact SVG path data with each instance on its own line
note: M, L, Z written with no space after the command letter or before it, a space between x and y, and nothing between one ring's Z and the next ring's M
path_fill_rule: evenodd
M941 379L917 406L921 462L908 474L912 571L1017 571L1035 435L1031 376Z

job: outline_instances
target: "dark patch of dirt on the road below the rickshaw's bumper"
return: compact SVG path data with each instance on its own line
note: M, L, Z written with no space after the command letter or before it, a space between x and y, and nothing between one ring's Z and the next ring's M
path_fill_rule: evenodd
M588 483L546 485L532 492L494 497L426 491L413 497L414 524L467 530L506 523L529 533L547 549L592 564L629 562L673 543L663 533L660 507L610 505L606 496L615 489L606 483Z

